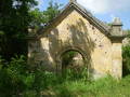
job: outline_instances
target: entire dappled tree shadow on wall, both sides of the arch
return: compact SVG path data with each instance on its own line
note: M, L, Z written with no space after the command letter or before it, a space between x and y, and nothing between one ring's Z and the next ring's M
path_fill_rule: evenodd
M56 69L62 69L61 55L70 50L79 52L89 65L89 68L91 68L91 53L94 48L94 42L88 34L88 27L86 26L86 23L79 18L76 25L67 24L67 29L70 34L67 37L64 36L66 37L65 41L61 38L61 34L65 33L60 32L56 28L52 29L52 31L48 34L49 53L56 65Z

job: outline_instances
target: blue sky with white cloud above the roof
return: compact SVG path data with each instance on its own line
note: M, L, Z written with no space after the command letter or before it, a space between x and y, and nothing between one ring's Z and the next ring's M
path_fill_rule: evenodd
M50 0L37 0L40 11L48 8ZM63 6L69 0L53 0L62 3ZM130 0L77 0L79 4L90 11L96 18L110 23L115 17L119 17L123 24L123 29L130 29Z

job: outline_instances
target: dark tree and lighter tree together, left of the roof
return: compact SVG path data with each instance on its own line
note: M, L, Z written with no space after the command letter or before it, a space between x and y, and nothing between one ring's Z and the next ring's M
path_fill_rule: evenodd
M0 0L0 55L10 60L14 55L26 55L29 27L44 27L60 13L61 4L52 2L46 11L35 0Z

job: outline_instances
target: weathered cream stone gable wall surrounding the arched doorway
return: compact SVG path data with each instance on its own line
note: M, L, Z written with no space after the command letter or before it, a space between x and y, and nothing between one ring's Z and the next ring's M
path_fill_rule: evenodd
M113 43L75 10L48 29L35 45L37 48L30 46L28 56L46 69L61 69L61 54L75 50L84 57L93 78L108 73L121 77L121 42Z

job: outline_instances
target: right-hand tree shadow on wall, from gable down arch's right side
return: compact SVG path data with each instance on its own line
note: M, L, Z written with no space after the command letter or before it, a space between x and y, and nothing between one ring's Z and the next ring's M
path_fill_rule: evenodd
M76 25L68 25L69 32L72 32L72 45L78 48L84 58L84 63L87 64L89 70L91 67L91 53L94 50L94 42L91 40L88 33L88 27L86 23L79 18Z

